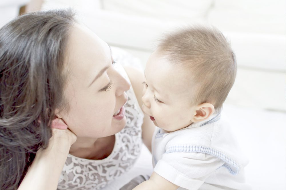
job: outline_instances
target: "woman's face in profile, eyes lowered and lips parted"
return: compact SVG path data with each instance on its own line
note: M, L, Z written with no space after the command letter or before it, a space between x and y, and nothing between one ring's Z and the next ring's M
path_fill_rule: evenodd
M75 24L66 57L65 99L69 110L57 116L78 137L110 136L126 124L122 107L130 83L112 63L109 46L89 29Z

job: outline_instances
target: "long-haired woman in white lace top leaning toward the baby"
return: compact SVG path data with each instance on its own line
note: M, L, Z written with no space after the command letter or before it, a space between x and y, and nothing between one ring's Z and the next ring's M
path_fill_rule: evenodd
M150 149L142 73L114 65L71 10L2 27L0 70L1 189L101 189L132 167L141 126Z

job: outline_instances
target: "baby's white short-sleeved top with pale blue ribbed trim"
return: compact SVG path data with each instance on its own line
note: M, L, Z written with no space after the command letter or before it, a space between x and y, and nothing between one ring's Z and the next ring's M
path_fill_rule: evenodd
M179 189L250 189L247 164L220 114L174 132L156 128L152 139L154 172Z

